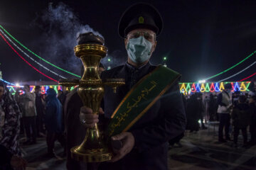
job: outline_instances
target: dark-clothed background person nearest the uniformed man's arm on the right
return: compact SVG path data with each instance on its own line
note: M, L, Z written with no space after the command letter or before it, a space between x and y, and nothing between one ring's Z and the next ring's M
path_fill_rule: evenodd
M197 132L199 130L198 120L201 118L201 108L200 103L197 100L196 94L193 94L191 98L188 99L187 104L187 129L190 132Z

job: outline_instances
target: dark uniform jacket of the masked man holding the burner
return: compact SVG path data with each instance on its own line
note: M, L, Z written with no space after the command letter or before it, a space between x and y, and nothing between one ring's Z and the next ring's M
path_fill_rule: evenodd
M103 80L122 78L126 83L117 88L116 94L113 93L112 88L105 86L104 111L107 119L111 117L132 86L155 68L156 66L148 62L139 69L124 64L102 72ZM134 135L134 149L118 162L100 164L100 169L168 169L168 141L180 135L185 130L185 126L186 115L176 81L129 130Z

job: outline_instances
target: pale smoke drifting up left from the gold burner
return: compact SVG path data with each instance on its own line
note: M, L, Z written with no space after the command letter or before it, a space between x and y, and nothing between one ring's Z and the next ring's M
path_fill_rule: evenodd
M89 25L82 25L73 9L62 2L56 6L50 3L36 22L36 26L43 29L43 35L38 40L41 44L41 57L76 74L80 74L82 65L74 55L74 47L78 45L76 41L78 35L92 32L103 38ZM65 73L60 72L60 74Z

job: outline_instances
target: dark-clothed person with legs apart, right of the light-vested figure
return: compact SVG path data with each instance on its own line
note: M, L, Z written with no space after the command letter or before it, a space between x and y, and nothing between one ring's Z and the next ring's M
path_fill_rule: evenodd
M247 105L246 97L240 96L238 105L233 109L231 118L234 126L234 145L238 147L238 135L242 130L243 147L247 145L247 126L250 124L250 108Z

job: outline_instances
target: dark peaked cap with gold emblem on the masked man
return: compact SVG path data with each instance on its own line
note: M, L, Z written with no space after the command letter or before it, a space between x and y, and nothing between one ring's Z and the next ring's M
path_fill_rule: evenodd
M161 33L163 20L159 11L150 4L133 4L122 14L118 25L118 33L122 38L137 28L153 30L156 35Z

